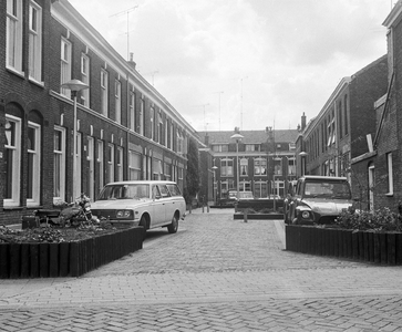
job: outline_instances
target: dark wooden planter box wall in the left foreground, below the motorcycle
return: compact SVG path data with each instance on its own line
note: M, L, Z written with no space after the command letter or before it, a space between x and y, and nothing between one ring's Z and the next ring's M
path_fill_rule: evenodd
M61 243L0 243L0 279L80 277L143 248L144 228Z

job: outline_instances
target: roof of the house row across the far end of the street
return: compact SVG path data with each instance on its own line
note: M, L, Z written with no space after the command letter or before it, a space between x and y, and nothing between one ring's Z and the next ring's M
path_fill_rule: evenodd
M228 144L234 143L230 138L235 133L233 131L228 132L198 132L202 141L205 142L205 136L208 136L209 144ZM267 142L268 134L266 131L241 131L240 135L244 136L241 142L244 144L260 144ZM277 143L295 143L299 132L297 129L280 129L274 131L274 138Z

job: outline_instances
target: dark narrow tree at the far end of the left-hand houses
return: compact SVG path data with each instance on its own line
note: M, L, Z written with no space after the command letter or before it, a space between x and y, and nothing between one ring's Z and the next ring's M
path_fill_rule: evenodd
M184 188L184 198L187 204L192 204L194 197L199 191L199 166L198 166L198 147L193 138L188 139L187 153L187 174L186 186Z

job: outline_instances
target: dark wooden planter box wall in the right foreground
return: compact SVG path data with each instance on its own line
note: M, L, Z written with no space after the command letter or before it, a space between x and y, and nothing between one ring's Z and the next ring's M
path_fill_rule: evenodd
M286 225L286 250L402 264L402 232L372 232Z

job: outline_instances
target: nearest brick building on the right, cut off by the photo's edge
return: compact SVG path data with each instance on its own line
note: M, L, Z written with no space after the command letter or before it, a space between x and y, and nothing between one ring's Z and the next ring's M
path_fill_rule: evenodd
M374 104L375 132L372 148L352 159L352 170L362 179L357 189L360 190L362 207L365 209L389 207L396 211L402 200L401 18L402 1L399 1L383 23L388 28L388 84L384 95Z

